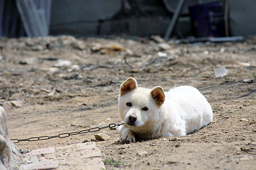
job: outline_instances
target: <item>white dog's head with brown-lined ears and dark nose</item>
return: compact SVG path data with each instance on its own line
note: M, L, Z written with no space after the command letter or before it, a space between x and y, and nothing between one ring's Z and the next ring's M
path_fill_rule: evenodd
M132 131L145 131L157 122L164 100L164 90L160 86L153 89L138 88L137 81L128 78L120 88L119 114Z

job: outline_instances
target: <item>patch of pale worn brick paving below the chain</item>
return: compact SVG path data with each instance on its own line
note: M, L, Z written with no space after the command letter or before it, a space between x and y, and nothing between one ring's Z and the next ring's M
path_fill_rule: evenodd
M101 150L96 147L95 142L32 150L23 155L23 161L26 164L21 166L21 170L105 169Z

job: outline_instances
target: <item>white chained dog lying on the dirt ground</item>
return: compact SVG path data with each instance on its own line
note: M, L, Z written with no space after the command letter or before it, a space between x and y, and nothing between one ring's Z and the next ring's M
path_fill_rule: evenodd
M134 78L122 83L118 109L124 125L119 128L122 143L183 136L208 125L213 111L206 98L194 87L179 86L164 92L156 86L138 88Z

